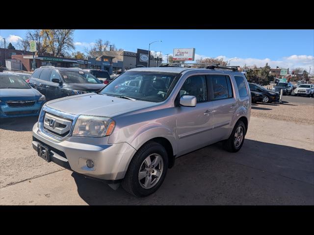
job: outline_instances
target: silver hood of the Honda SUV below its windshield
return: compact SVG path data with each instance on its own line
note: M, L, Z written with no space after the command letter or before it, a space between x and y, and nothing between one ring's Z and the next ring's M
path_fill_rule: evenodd
M75 115L94 115L114 117L142 108L155 106L157 103L129 100L101 94L78 94L54 99L46 103L48 107Z

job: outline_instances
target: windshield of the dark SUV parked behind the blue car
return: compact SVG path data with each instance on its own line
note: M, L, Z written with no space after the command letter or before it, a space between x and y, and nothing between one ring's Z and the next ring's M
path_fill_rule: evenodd
M61 71L65 83L94 83L102 84L100 80L89 72L68 72Z

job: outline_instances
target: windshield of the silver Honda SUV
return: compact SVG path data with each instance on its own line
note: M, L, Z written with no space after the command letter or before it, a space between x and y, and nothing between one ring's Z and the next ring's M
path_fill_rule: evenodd
M176 76L177 73L126 71L105 86L100 93L161 102L171 93Z

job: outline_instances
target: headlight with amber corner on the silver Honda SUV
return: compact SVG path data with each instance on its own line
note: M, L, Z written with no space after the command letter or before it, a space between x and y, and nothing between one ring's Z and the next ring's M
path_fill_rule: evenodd
M111 118L81 115L75 123L72 136L104 137L111 135L115 122Z

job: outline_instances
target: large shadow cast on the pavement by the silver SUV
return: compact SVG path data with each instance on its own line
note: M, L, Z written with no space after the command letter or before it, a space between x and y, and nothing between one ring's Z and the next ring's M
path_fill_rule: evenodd
M72 177L89 205L314 204L313 151L254 140L245 140L237 153L216 143L178 158L161 187L144 198Z

